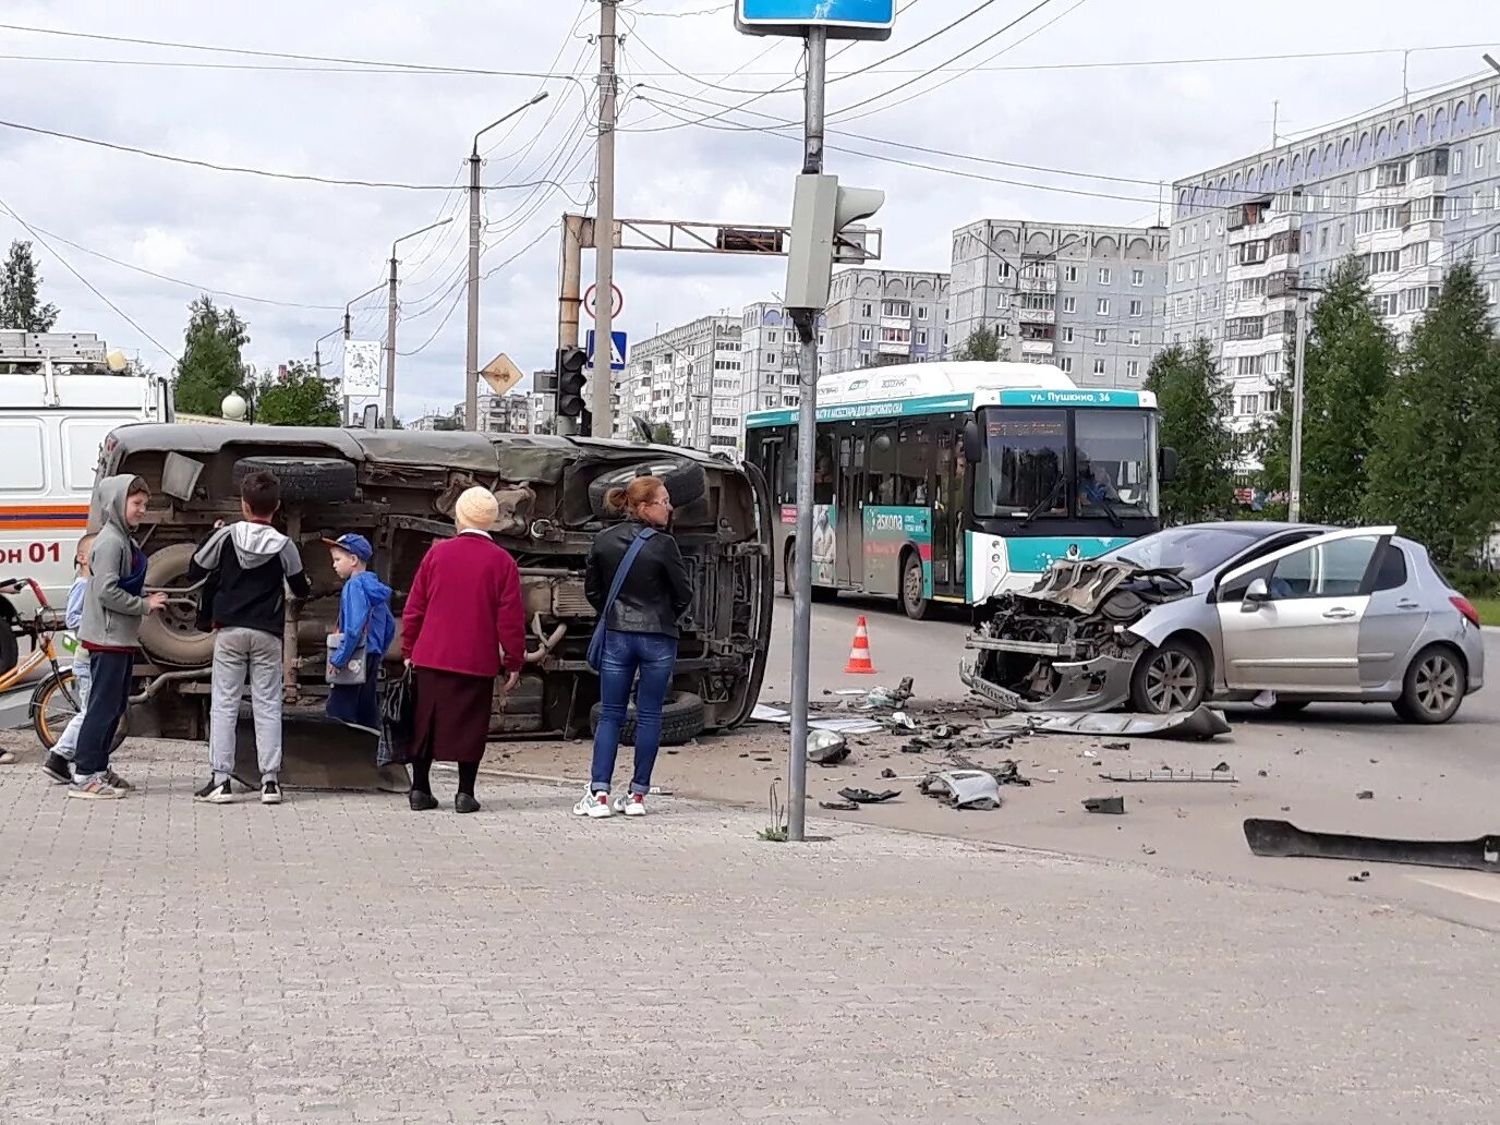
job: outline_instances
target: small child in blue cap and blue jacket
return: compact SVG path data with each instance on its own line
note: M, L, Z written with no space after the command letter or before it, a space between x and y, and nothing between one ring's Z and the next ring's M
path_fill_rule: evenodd
M390 586L369 568L375 549L364 536L339 536L324 543L333 554L333 573L344 582L339 596L340 642L328 654L328 678L350 670L360 645L364 646L364 680L358 684L334 682L328 688L330 718L380 735L380 666L396 636L390 612Z

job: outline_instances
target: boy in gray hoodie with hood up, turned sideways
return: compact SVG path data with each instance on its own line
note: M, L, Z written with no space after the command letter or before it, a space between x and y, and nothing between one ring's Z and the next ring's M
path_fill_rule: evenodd
M141 620L166 604L166 594L146 596L146 555L132 532L146 516L152 490L140 477L105 477L98 486L104 525L88 552L93 579L84 592L78 640L88 651L93 682L69 796L117 801L124 789L110 770L110 750L120 718L130 705L130 674L140 646Z

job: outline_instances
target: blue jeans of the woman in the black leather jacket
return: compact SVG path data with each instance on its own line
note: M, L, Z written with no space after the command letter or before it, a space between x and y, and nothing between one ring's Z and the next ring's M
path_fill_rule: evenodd
M662 746L662 705L672 686L676 664L676 638L663 633L604 633L604 658L598 670L598 730L594 732L594 770L590 792L608 794L620 754L620 730L630 705L630 686L636 688L636 771L630 792L651 792L651 770Z

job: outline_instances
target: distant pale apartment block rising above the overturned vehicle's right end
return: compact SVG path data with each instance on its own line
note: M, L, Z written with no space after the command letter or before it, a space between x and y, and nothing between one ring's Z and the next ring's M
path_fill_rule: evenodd
M734 452L741 417L741 318L699 316L632 345L616 382L615 436L632 416L668 424L680 446Z

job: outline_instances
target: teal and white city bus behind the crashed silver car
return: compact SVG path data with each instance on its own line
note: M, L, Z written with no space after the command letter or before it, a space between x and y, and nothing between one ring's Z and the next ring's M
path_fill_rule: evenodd
M813 594L982 606L1056 560L1092 558L1161 528L1149 392L1077 387L1036 363L910 363L818 384ZM746 418L746 459L776 504L790 590L796 410Z

